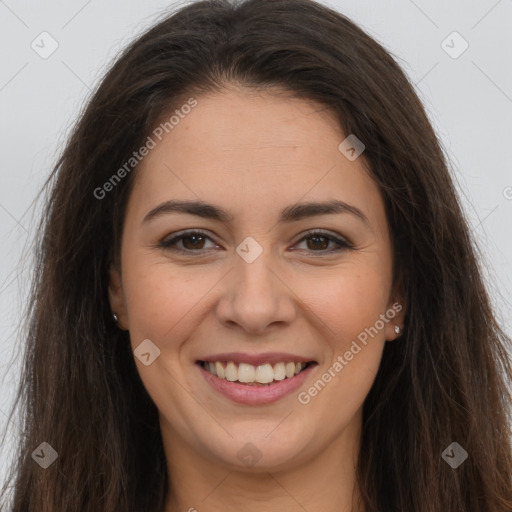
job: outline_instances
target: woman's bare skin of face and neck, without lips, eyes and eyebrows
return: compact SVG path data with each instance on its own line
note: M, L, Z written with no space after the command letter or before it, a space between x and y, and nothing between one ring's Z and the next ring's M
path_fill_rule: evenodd
M135 363L160 414L171 482L165 510L364 512L355 480L362 406L405 308L306 405L298 392L267 405L232 402L195 361L228 351L301 354L318 362L299 391L310 388L401 304L380 191L362 157L338 150L345 135L324 107L235 86L196 99L141 163L122 271L112 267L110 282L132 349L149 339L160 350L149 366ZM234 221L166 213L142 222L170 199L214 203ZM277 224L286 206L332 199L359 208L368 224L350 213ZM189 254L159 246L189 229L209 238L176 243ZM330 252L337 245L303 238L308 229L354 248ZM250 264L235 252L248 236L263 249ZM248 442L261 454L252 466L237 456Z

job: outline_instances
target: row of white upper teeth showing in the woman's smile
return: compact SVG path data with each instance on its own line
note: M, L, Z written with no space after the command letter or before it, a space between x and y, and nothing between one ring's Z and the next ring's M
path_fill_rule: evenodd
M291 379L305 367L306 363L293 362L275 363L274 366L265 363L257 367L247 363L237 365L233 361L228 361L227 363L219 361L203 363L203 368L220 379L226 379L230 382L238 381L245 384L270 384L273 381L281 381L286 378Z

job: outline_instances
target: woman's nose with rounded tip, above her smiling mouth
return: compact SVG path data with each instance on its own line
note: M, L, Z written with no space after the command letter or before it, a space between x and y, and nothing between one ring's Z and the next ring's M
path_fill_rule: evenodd
M235 255L234 268L224 279L224 292L217 304L217 318L224 326L263 334L294 320L293 283L286 282L284 273L266 254L264 251L252 263Z

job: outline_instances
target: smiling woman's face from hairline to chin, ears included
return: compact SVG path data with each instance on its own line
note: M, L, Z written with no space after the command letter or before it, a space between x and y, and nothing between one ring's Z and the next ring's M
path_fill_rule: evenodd
M196 99L140 164L111 271L166 448L231 468L252 457L254 470L350 450L404 314L364 153L348 159L334 117L304 100L234 88ZM220 362L224 379L199 361ZM293 362L308 364L294 375ZM254 378L273 383L238 382Z

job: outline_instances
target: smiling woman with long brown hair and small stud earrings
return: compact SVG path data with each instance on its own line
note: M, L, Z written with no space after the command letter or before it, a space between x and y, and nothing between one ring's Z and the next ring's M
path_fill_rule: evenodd
M512 510L510 339L423 106L347 18L181 8L48 184L10 510Z

